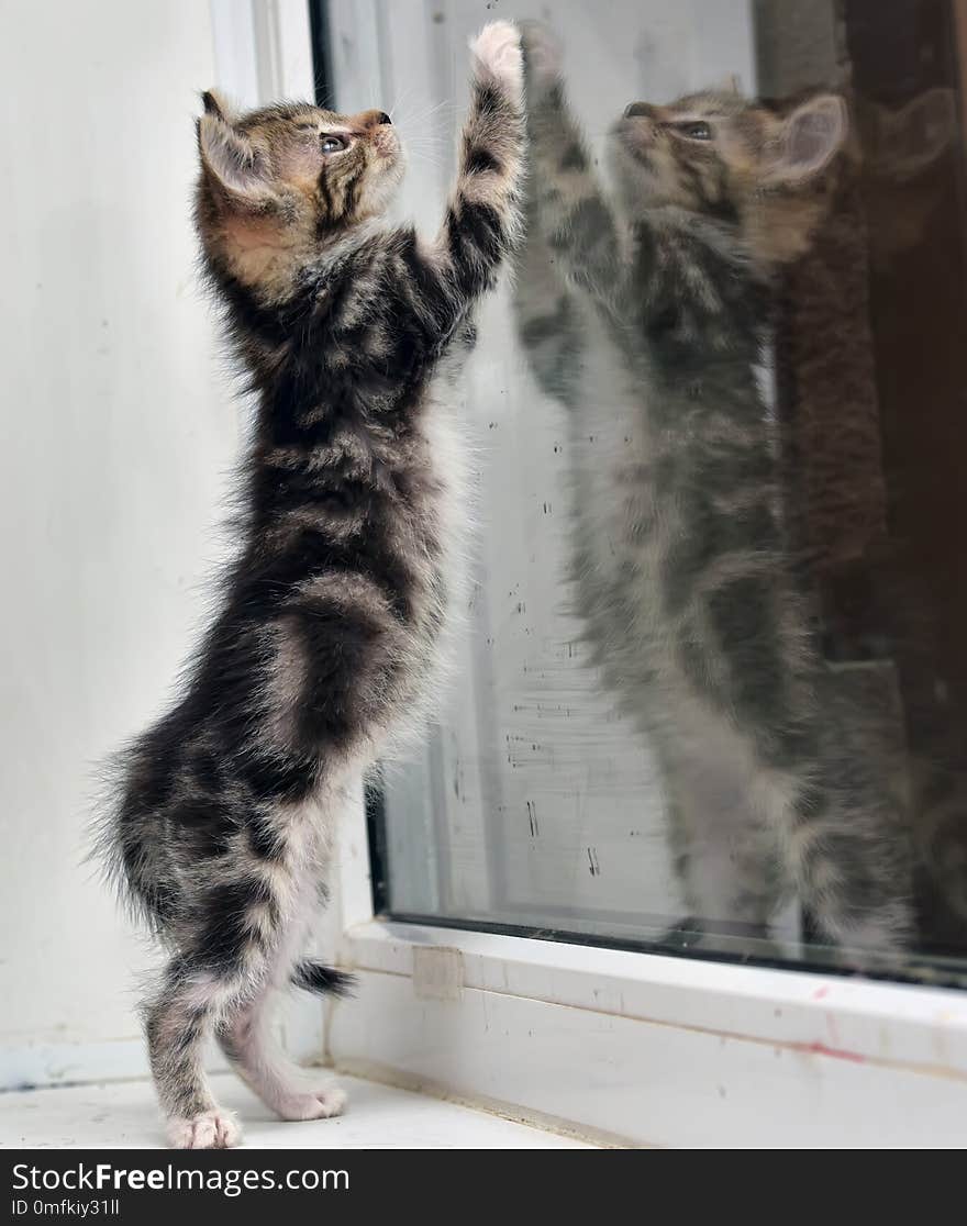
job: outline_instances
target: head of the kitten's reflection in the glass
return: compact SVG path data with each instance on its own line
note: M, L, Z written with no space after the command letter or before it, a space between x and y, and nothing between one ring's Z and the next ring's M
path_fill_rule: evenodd
M614 166L632 219L677 205L729 221L771 265L809 245L827 207L822 172L847 131L846 104L831 93L789 107L730 92L634 102L613 131Z

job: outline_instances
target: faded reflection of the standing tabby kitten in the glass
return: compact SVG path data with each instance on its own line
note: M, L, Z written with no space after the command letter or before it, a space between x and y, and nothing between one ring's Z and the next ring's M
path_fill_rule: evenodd
M518 330L569 408L577 612L656 752L689 906L761 929L795 888L825 939L898 948L896 804L813 642L757 379L770 278L827 207L843 103L634 103L615 212L548 31L527 27L525 61Z

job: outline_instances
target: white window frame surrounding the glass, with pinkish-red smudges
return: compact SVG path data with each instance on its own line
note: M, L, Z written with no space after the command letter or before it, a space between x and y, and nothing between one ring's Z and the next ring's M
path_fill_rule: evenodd
M415 0L330 9L357 86L425 18ZM310 93L304 0L212 11L229 92ZM337 1069L619 1145L967 1144L963 993L381 920L362 788L333 864L320 948L359 981L325 1010Z

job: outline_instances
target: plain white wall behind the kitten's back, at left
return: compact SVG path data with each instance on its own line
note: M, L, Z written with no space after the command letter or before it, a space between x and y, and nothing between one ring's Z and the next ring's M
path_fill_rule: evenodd
M9 1085L141 1059L147 951L81 866L85 796L92 764L161 710L199 626L240 416L190 224L208 5L4 0L0 17Z

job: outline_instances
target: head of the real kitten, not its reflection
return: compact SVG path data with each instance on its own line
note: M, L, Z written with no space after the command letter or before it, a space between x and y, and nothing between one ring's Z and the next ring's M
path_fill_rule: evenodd
M381 110L283 104L235 115L202 96L199 232L210 260L267 299L324 244L389 206L403 156Z

